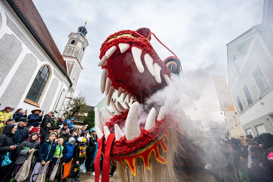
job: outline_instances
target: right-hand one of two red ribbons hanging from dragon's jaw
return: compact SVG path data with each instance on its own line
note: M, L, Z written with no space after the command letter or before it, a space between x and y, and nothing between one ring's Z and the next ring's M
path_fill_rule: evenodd
M103 181L103 182L109 181L109 169L110 169L109 156L110 156L111 146L112 146L114 139L115 139L115 133L110 133L109 136L107 137L105 153L104 153L104 158L103 158L103 164L102 164L102 175L101 175L101 181Z

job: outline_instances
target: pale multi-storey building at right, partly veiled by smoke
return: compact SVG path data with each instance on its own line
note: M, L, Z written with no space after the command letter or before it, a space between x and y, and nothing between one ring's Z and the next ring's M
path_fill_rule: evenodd
M263 22L227 44L228 80L244 134L273 133L273 6Z

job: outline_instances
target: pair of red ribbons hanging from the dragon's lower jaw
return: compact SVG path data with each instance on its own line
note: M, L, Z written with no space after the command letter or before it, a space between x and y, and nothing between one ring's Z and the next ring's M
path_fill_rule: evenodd
M109 181L109 163L110 163L110 151L111 151L111 146L112 143L115 139L115 133L110 133L109 136L107 137L106 141L106 146L105 146L105 153L104 153L104 158L103 158L103 164L102 164L102 176L101 176L101 181ZM102 148L102 138L98 139L98 151L94 160L94 168L95 168L95 182L100 181L100 154L101 154L101 148Z

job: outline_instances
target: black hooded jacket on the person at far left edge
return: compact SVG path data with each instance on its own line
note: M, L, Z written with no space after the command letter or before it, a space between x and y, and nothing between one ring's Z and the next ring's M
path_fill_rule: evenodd
M14 145L12 141L13 133L11 133L14 126L16 125L7 125L3 130L3 134L0 135L0 155L9 152L9 147Z

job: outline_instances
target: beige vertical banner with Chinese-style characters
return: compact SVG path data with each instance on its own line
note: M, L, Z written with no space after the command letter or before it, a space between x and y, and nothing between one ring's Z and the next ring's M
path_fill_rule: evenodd
M235 111L232 102L229 86L226 82L226 75L212 77L220 103L221 111Z

